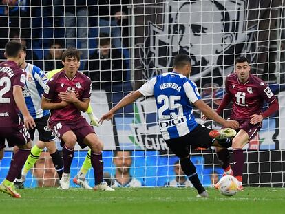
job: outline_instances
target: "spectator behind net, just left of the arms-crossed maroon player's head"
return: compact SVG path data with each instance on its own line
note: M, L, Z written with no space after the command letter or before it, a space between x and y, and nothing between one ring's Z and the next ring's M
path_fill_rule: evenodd
M45 56L45 71L51 71L53 69L59 69L63 67L61 62L61 55L63 54L63 42L61 40L53 40L50 42L50 51Z

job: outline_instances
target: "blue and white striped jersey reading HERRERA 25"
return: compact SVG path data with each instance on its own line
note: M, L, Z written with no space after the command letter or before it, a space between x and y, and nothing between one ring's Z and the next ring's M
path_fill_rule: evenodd
M187 135L198 124L190 103L200 100L197 86L186 76L169 72L155 76L138 91L156 98L158 120L165 140Z

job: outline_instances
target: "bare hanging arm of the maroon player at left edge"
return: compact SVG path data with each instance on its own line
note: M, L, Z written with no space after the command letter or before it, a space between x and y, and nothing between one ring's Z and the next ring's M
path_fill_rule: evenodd
M23 120L24 120L25 127L27 129L30 129L30 128L33 129L34 127L36 127L36 124L32 116L30 116L27 106L25 105L25 98L23 97L22 90L23 89L21 87L14 86L13 88L14 100L15 100L15 103L17 104L17 107L23 114Z

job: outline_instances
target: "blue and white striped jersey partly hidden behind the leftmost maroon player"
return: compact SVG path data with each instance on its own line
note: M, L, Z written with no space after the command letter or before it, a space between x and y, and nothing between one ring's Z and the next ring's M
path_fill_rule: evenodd
M30 63L27 63L25 72L27 73L25 90L23 91L25 104L34 119L42 118L50 114L49 110L41 109L41 96L45 89L45 83L47 83L47 76L39 67Z

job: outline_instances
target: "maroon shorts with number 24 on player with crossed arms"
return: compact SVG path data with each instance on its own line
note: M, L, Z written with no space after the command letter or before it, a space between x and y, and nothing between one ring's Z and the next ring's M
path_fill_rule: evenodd
M57 121L57 122L49 122L50 129L54 132L54 135L61 140L63 134L67 131L72 131L77 138L78 145L81 146L81 148L87 147L83 143L84 138L89 133L95 133L94 129L89 125L89 123L85 120L85 118L80 118L76 121ZM61 140L61 147L65 142Z

